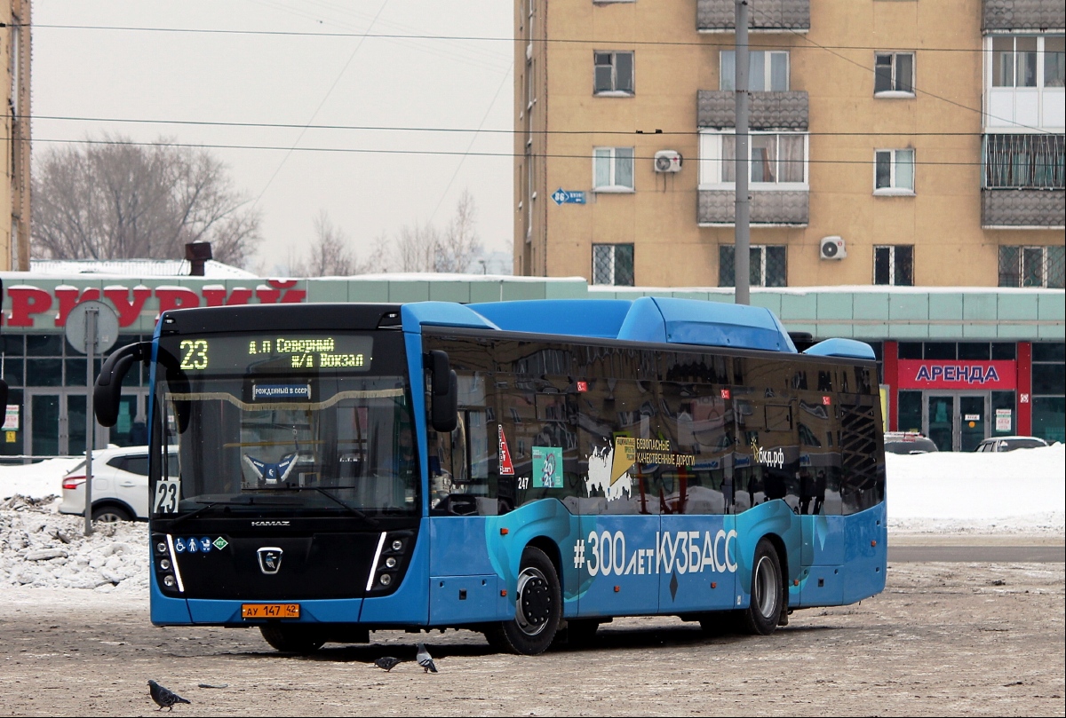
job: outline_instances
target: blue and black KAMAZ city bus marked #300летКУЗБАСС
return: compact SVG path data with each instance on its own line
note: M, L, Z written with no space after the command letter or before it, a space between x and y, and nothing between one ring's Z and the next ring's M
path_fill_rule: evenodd
M497 650L617 617L766 635L885 586L877 366L766 309L642 297L164 312L150 614L307 653L465 629Z

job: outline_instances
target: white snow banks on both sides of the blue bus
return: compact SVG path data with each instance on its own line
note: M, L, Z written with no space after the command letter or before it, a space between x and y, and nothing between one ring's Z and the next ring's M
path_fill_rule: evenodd
M889 535L1063 537L1066 446L1005 454L886 457ZM84 519L56 512L60 482L78 459L0 466L0 590L90 588L144 595L148 532L122 523L83 536Z

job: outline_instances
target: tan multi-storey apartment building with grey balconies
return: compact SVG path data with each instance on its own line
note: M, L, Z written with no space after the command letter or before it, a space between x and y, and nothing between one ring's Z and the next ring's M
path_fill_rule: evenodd
M748 7L753 287L1063 287L1062 3ZM733 30L516 0L516 274L732 284Z

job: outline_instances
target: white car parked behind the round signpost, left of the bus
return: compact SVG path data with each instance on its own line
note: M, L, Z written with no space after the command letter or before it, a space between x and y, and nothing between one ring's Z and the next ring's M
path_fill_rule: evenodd
M147 446L93 452L94 521L147 521L149 503ZM60 513L85 516L85 461L63 477Z

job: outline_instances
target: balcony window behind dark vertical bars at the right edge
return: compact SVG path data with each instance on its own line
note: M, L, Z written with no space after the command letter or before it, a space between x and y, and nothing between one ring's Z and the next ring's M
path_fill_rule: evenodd
M984 137L985 189L1066 187L1061 134L986 134Z

